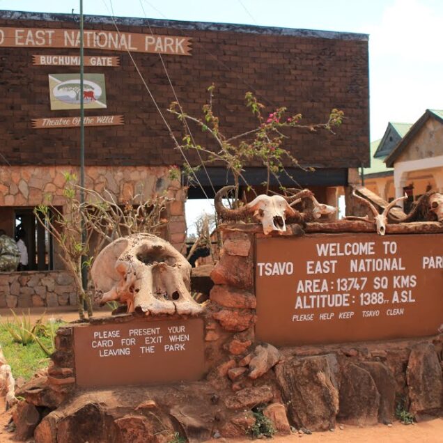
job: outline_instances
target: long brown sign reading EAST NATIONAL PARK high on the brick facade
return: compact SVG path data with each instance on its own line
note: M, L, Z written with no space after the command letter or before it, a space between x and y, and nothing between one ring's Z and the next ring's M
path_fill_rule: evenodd
M84 31L84 47L105 51L153 52L157 54L191 55L189 37L153 34ZM77 29L0 28L0 47L80 47Z

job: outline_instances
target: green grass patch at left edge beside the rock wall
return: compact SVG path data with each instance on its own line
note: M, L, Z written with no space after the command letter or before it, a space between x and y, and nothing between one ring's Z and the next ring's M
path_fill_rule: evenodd
M38 334L38 339L47 348L51 347L51 337ZM23 377L25 380L29 380L34 373L39 369L47 368L49 364L49 358L38 343L35 341L27 345L16 343L3 322L0 323L0 345L6 362L8 362L13 371L14 378Z

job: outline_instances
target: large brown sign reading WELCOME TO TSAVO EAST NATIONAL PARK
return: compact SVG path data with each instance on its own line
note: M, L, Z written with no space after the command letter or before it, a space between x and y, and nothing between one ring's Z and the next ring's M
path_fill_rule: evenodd
M437 334L443 234L256 240L256 337L306 345Z

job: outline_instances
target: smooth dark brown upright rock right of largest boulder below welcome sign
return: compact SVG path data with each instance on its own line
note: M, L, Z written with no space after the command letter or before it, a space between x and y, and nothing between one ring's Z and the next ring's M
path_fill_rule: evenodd
M378 422L380 394L371 373L355 364L342 368L339 418L353 425Z

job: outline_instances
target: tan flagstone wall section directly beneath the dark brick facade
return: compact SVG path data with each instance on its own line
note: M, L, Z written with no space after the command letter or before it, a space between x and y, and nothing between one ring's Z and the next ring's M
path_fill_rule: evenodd
M171 166L173 168L173 166ZM141 194L145 200L156 194L167 193L170 199L166 218L166 240L178 250L183 248L186 236L186 193L180 182L169 178L171 168L166 166L86 166L85 186L98 194L104 189L113 198L124 204L131 196ZM0 169L0 228L13 235L13 208L23 208L50 203L61 206L66 212L64 173L80 176L79 168L73 166L9 166ZM56 265L61 267L60 263ZM57 268L56 267L56 268Z

